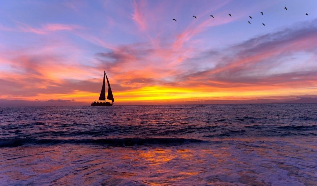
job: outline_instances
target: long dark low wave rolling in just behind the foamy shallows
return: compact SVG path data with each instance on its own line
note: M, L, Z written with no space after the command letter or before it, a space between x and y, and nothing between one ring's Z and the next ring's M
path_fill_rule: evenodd
M203 140L191 138L100 138L100 139L36 139L10 138L0 139L0 147L17 147L22 145L55 145L55 144L98 144L107 146L135 145L180 145L184 143L202 143Z

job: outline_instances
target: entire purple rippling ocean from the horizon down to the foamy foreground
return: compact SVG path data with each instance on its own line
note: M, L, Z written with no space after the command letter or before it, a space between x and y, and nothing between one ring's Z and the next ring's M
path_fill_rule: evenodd
M0 185L317 185L316 110L0 108Z

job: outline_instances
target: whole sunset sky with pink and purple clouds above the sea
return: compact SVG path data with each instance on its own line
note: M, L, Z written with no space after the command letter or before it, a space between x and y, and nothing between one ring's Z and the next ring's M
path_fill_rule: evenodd
M0 1L0 99L315 96L316 59L315 0Z

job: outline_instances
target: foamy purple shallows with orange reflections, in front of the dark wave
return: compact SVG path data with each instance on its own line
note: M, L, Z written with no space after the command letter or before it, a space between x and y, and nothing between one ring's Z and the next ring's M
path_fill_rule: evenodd
M314 165L310 158L316 152L301 146L315 138L301 143L290 138L276 143L278 139L273 137L222 140L209 146L59 144L3 148L0 179L26 183L42 176L48 184L57 185L270 185L268 177L276 176L284 183L296 178L292 183L316 185L309 167ZM296 147L291 148L291 144Z

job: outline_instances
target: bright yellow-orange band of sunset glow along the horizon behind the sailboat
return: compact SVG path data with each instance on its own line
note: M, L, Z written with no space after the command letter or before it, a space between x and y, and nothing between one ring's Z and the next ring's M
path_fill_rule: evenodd
M203 101L203 100L247 100L247 99L258 99L269 96L292 96L306 94L317 94L314 89L276 89L276 90L224 90L217 88L215 92L208 91L210 87L198 87L188 88L175 88L175 87L164 87L164 86L148 86L133 91L121 91L113 92L116 103L136 102L136 103L147 103L147 102L177 102L177 101ZM241 89L241 88L240 88ZM204 91L205 90L205 91ZM16 99L23 99L34 101L49 100L49 99L65 99L76 102L87 102L90 103L97 100L100 93L87 92L74 90L70 94L39 94L32 97L16 97ZM5 97L1 97L5 99Z

